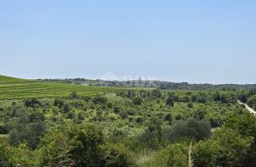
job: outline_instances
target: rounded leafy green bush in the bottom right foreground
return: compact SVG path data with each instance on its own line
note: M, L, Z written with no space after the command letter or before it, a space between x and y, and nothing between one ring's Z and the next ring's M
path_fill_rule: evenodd
M252 142L253 138L243 137L234 129L218 129L209 141L195 146L194 166L245 167Z

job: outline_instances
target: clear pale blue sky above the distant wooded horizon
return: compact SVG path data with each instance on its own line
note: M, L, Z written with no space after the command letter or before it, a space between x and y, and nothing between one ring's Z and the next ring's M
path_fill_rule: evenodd
M256 83L255 0L0 1L0 75Z

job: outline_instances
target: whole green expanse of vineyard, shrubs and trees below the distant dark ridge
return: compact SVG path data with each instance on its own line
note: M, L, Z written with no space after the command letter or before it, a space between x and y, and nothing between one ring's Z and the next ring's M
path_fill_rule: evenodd
M256 89L2 78L1 167L256 166L255 116L238 103L256 109Z

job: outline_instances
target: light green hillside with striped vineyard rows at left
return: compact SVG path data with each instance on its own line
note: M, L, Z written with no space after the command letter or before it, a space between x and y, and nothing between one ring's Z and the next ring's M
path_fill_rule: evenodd
M106 91L101 87L89 87L74 84L42 82L36 80L19 79L0 76L0 99L21 99L28 97L59 97L67 96L71 92L79 95L95 95Z

